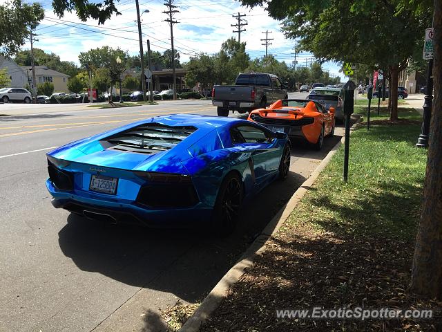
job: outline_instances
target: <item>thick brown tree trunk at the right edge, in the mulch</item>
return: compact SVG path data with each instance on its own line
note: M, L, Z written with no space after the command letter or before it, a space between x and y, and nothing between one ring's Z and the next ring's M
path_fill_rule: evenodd
M442 299L442 0L434 0L434 102L421 221L414 249L414 293Z

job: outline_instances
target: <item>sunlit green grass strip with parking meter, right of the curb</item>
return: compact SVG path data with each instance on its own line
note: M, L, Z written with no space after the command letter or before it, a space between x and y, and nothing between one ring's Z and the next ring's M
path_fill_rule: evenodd
M407 109L400 118L414 120L419 114ZM426 150L414 147L420 129L417 123L374 124L369 131L354 131L348 183L342 180L341 146L287 225L309 223L318 232L412 239L427 160Z

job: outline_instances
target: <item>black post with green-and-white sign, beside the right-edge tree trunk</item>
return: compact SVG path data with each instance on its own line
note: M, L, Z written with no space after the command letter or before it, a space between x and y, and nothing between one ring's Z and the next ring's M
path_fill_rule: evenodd
M428 136L430 133L431 110L433 107L433 37L434 28L425 30L425 44L423 46L423 59L428 60L427 86L423 98L423 121L421 134L417 139L416 147L428 147Z

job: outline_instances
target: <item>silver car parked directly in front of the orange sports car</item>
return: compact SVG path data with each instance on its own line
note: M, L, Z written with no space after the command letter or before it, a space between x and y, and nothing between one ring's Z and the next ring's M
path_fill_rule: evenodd
M328 111L330 107L334 107L334 117L336 122L342 123L344 121L344 92L340 88L314 88L307 95L307 100L314 100L323 105L324 109Z

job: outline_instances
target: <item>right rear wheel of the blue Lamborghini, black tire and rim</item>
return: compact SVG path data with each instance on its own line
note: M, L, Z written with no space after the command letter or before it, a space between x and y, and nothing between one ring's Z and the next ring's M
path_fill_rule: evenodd
M242 181L234 173L229 173L221 183L213 208L213 230L225 237L236 227L242 202Z

